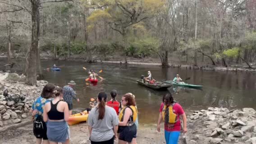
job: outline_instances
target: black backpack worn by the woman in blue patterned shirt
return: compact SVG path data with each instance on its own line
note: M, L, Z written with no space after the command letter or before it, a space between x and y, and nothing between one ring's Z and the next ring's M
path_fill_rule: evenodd
M46 123L43 121L43 117L38 115L33 122L33 133L37 138L43 138L46 131Z

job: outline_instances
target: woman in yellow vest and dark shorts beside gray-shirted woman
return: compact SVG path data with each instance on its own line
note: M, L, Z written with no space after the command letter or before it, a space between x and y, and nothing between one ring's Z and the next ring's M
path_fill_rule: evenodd
M136 102L131 94L124 94L122 97L122 105L124 106L119 112L119 140L118 144L137 144L137 119Z

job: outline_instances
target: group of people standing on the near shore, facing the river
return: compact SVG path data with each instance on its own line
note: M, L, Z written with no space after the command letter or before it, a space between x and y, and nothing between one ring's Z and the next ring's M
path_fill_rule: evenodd
M67 124L69 115L72 114L72 99L75 96L74 81L63 89L53 84L47 84L36 101L32 105L34 117L34 135L36 143L41 144L69 144L70 130ZM89 112L87 123L91 144L137 144L137 106L135 96L132 93L124 94L121 102L116 100L116 90L110 92L111 99L107 100L107 94L100 92L96 99L96 106ZM183 120L182 131L187 132L187 118L183 108L176 102L171 94L166 94L160 105L157 130L160 131L161 121L165 122L166 144L178 144Z

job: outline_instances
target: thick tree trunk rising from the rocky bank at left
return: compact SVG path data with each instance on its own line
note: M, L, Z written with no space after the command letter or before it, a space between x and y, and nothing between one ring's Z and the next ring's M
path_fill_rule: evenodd
M38 32L37 32L37 17L38 0L31 0L32 3L32 31L31 31L31 47L27 58L26 84L37 84L37 47L38 47Z

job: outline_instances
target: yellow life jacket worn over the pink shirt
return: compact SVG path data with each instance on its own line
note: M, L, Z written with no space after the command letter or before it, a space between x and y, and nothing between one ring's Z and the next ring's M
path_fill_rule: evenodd
M170 106L164 105L164 108L162 110L162 117L165 121L165 123L174 124L178 121L178 116L173 112L174 104L171 104Z

